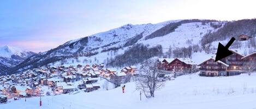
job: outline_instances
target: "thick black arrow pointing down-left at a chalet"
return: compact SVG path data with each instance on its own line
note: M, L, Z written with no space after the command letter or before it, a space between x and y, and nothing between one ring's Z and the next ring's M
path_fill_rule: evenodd
M227 43L226 46L223 46L223 44L219 43L218 44L218 49L215 57L215 62L218 60L221 60L231 54L233 54L230 50L229 47L231 44L235 41L236 39L234 37L231 38L231 40Z

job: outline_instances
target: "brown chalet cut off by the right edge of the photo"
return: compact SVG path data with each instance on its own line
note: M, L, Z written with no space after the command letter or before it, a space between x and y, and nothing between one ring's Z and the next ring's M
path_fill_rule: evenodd
M242 57L244 61L243 68L245 70L256 70L256 52Z

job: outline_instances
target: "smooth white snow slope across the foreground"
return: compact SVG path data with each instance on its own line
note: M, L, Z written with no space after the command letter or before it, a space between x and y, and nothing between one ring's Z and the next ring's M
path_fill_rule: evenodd
M135 82L126 84L126 92L121 87L109 91L90 93L64 94L42 97L43 106L39 106L39 98L27 98L1 104L1 109L27 108L72 108L72 109L253 109L256 108L256 74L201 77L198 74L179 76L175 80L166 81L165 87L156 91L156 97L147 99L135 90Z

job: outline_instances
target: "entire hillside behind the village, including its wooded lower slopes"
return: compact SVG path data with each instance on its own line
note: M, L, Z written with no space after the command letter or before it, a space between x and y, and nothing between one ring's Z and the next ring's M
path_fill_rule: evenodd
M255 20L246 20L243 22L254 21ZM112 67L130 66L138 64L152 56L177 56L170 55L175 54L170 53L170 48L172 49L171 52L174 52L175 50L176 52L181 52L182 49L180 48L184 48L193 49L191 54L198 52L204 54L204 52L206 52L207 55L211 55L215 53L215 49L217 48L217 44L215 43L221 41L225 44L230 36L227 37L226 35L222 38L222 34L209 34L220 33L220 31L223 31L223 28L231 28L236 25L236 22L240 21L175 20L157 24L126 24L109 31L68 41L57 48L29 57L29 59L9 69L7 74L19 73L27 69L56 64L64 65L94 62L106 63L108 66ZM241 27L241 25L246 25L247 23L239 24ZM246 26L236 30L241 29L242 31L245 27ZM255 27L249 29L253 30ZM248 32L250 31L244 31L243 33L241 32L241 34L249 34ZM230 31L230 33L232 33L232 31ZM249 35L255 36L255 33L251 32ZM206 44L202 44L201 42L205 37L211 40L207 41ZM143 44L144 46L138 46L138 44ZM145 49L142 49L141 47L144 47ZM196 47L198 50L194 50ZM132 52L130 51L130 48L144 50L144 52ZM246 48L246 51L243 50L242 53L246 52L247 54L253 52L255 49L254 45L250 44L249 41L242 42L239 47L232 48L236 50ZM147 56L144 59L141 59L142 55ZM132 58L130 56L137 57ZM180 57L182 56L193 59L193 55L180 55ZM122 60L123 58L126 60ZM114 62L115 60L120 60L120 62L116 63ZM130 63L127 63L127 60L129 60Z

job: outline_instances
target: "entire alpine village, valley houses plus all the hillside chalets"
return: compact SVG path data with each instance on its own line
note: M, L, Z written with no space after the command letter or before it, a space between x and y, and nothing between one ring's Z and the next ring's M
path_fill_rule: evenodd
M250 39L240 35L240 41ZM189 58L158 58L157 68L163 79L199 72L199 76L232 76L256 70L256 52L246 56L230 50L233 54L215 62L214 57L196 65ZM0 76L0 102L8 99L39 97L43 95L86 93L99 89L118 87L122 83L135 81L138 66L122 69L106 68L104 64L77 66L47 66L27 70L20 74Z

